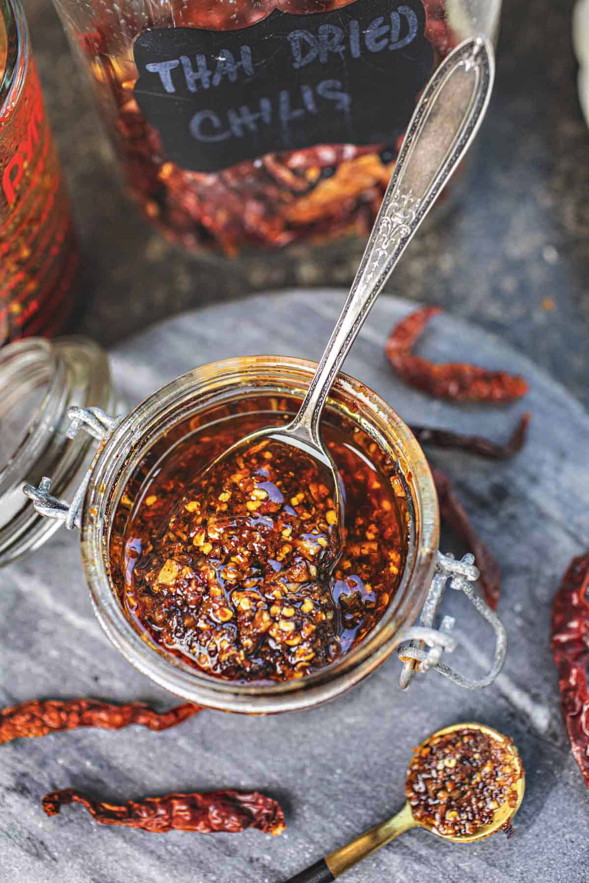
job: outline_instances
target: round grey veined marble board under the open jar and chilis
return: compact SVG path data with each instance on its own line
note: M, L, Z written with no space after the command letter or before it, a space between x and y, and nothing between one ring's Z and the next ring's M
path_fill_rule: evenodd
M266 294L166 321L112 352L117 385L134 404L162 382L217 358L274 351L317 358L344 292ZM485 691L458 690L439 675L397 688L388 663L356 689L311 712L242 717L204 712L162 734L130 728L20 740L0 749L0 880L19 883L280 883L403 802L412 746L454 721L479 720L509 733L527 772L517 836L459 847L422 831L404 834L351 871L350 883L444 879L449 883L583 883L589 796L559 713L548 650L550 602L572 555L589 545L589 416L557 382L494 336L436 317L420 351L509 368L531 383L505 408L437 402L396 381L383 355L394 322L412 307L383 298L346 370L376 389L409 422L449 426L502 440L533 412L530 441L509 463L436 452L503 570L500 613L510 652ZM463 549L451 535L444 548ZM454 594L454 593L453 593ZM485 627L458 596L444 601L463 639L453 660L474 669L488 659ZM34 697L104 696L173 701L136 672L94 620L74 533L0 573L2 706ZM166 834L97 826L79 807L47 819L41 797L86 788L117 801L170 790L265 789L283 800L280 838Z

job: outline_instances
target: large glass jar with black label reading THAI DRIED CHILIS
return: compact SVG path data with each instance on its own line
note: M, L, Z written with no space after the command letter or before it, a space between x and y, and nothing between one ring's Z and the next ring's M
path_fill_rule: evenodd
M365 237L427 79L501 0L55 0L127 190L196 252Z

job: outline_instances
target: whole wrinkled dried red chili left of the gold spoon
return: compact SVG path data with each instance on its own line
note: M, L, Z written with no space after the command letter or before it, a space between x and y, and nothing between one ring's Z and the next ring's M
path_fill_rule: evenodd
M146 797L122 806L102 804L72 788L52 791L42 800L43 810L55 816L62 806L78 803L86 807L101 825L120 825L165 834L167 831L197 831L237 834L257 828L263 834L282 834L284 813L280 804L259 791L210 791L208 794L167 794Z

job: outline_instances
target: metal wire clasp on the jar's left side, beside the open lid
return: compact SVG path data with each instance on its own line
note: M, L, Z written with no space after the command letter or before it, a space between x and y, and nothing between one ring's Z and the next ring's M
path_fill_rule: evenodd
M86 496L88 482L94 468L94 461L123 417L110 417L106 411L102 411L102 408L80 408L77 404L72 404L68 408L67 416L72 420L67 431L69 439L74 439L79 430L84 429L88 434L101 442L86 475L73 496L72 502L67 503L49 494L51 479L46 475L39 482L39 487L25 485L23 493L26 494L29 500L33 501L34 509L39 515L44 515L47 518L56 518L57 521L64 521L68 531L71 531L72 528L81 526L82 503Z

